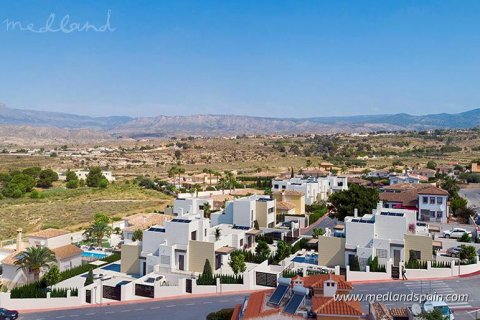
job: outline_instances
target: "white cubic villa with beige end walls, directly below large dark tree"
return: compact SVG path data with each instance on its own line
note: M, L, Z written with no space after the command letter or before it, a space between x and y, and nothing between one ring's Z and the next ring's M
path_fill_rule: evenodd
M330 232L319 237L319 264L326 266L352 265L357 258L365 270L369 261L378 257L379 264L394 266L408 261L410 255L418 260L432 259L432 238L417 212L407 209L383 208L381 202L371 214L345 218L344 232Z

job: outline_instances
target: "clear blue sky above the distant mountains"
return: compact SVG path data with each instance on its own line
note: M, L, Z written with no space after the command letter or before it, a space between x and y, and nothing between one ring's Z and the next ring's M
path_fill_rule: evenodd
M480 1L0 2L0 101L88 115L480 107ZM32 33L5 19L114 32Z

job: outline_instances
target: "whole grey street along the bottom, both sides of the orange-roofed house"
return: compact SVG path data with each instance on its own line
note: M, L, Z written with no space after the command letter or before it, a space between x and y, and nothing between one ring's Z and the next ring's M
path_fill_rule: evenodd
M408 274L407 274L408 276ZM384 283L355 284L352 293L358 294L386 294L388 292L409 294L437 293L467 293L469 300L452 302L449 305L454 309L480 309L480 276L458 279L434 281L395 281ZM82 308L74 310L53 311L24 315L25 320L47 319L89 319L89 320L127 320L127 319L205 319L212 311L222 308L231 308L241 303L245 295L224 295L214 297L177 299L169 301L153 301L138 304L122 304L96 308ZM387 306L411 306L411 302L387 301ZM365 312L368 303L363 302ZM457 311L457 319L474 319L474 313Z

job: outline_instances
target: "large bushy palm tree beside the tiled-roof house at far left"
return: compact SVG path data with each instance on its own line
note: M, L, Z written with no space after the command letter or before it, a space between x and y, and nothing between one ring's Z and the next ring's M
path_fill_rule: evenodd
M15 265L33 274L33 279L38 281L42 268L50 268L50 263L57 261L52 250L46 247L29 247L17 255Z

